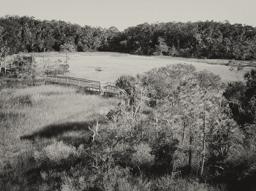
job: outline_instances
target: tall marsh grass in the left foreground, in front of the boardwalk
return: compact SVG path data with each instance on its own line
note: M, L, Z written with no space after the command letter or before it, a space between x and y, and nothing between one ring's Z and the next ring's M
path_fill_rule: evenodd
M0 190L27 190L28 184L40 180L34 152L56 141L75 147L87 143L88 126L98 119L105 123L105 115L118 101L77 93L68 86L1 88Z

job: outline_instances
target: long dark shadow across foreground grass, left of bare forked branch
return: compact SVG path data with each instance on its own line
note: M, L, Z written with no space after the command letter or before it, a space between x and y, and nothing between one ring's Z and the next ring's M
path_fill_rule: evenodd
M38 132L30 135L21 136L20 139L28 139L35 141L38 138L53 138L56 137L57 140L63 141L67 144L72 144L74 146L79 146L83 143L90 142L90 135L88 126L95 127L97 121L91 122L68 122L64 124L53 124L43 127ZM104 120L99 120L99 124L105 124Z

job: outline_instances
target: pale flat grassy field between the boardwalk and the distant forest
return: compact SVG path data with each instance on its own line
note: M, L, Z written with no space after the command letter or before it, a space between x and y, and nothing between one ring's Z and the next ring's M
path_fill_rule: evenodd
M27 54L31 55L31 54ZM42 62L43 53L34 53L37 62ZM13 57L13 56L12 56ZM170 56L136 56L124 53L112 52L75 52L68 54L70 73L65 76L91 79L95 81L115 82L124 73L137 74L143 73L154 67L161 67L167 64L188 63L193 64L197 70L209 70L214 74L219 74L224 83L243 80L246 68L242 72L230 71L225 64L229 60L220 59L188 59L175 58ZM11 57L10 57L11 58ZM10 59L9 58L9 59ZM58 52L45 53L44 61L65 61L66 55Z

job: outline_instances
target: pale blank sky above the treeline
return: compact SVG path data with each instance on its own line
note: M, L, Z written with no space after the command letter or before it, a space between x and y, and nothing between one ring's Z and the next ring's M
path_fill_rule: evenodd
M0 0L0 17L7 14L120 31L144 22L198 20L256 27L256 0Z

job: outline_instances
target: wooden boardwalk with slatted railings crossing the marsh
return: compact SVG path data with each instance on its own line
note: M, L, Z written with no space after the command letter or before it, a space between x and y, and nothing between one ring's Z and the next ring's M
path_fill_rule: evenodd
M98 92L100 95L119 95L120 89L112 82L97 82L93 80L86 80L81 78L73 77L62 77L62 76L47 76L47 82L53 82L58 84L70 84L74 86L84 87L88 91ZM150 101L149 97L142 97L143 100Z

